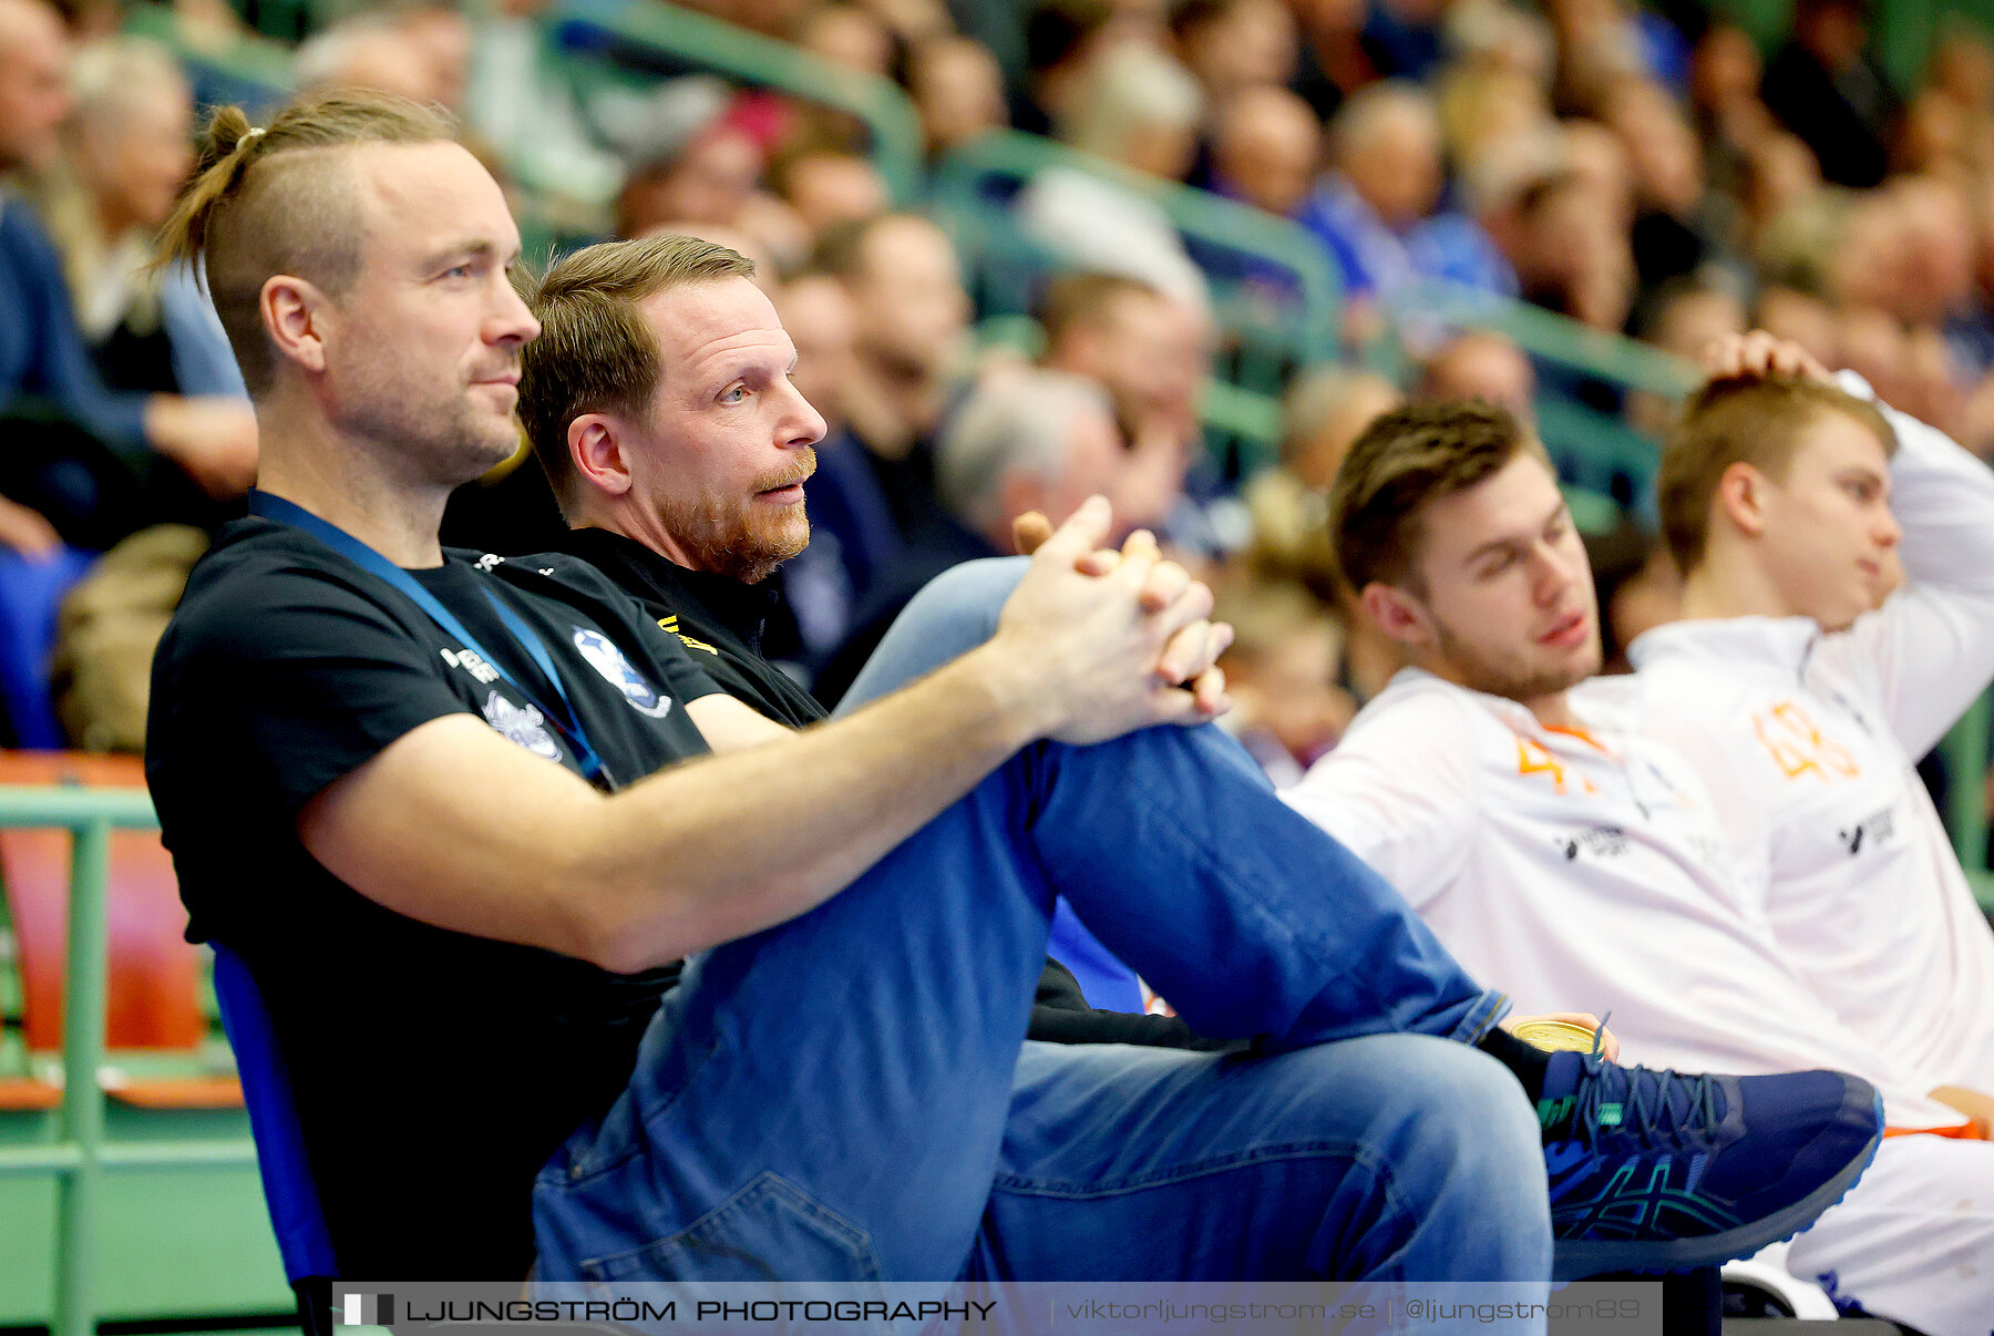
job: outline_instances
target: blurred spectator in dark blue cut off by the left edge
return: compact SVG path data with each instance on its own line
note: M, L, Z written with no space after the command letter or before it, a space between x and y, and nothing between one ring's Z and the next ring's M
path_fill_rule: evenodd
M0 175L56 160L70 110L66 60L54 10L42 0L0 0ZM52 401L70 423L14 417L4 425L0 497L14 502L4 522L22 544L46 546L46 528L20 506L76 546L102 548L132 532L146 518L140 479L154 467L152 453L217 499L239 497L255 475L255 415L239 399L104 387L42 221L0 193L0 415L18 413L26 397Z

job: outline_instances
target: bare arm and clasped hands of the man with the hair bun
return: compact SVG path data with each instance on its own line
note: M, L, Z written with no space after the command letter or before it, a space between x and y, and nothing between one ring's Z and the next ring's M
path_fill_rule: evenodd
M1170 686L1202 678L1222 648L1202 620L1210 590L1163 578L1164 606L1147 610L1153 554L1099 578L1077 570L1107 520L1107 506L1083 506L987 642L851 718L802 734L756 720L732 738L742 750L604 796L451 714L313 798L299 834L333 875L397 913L608 969L772 927L837 893L1035 738L1085 744L1222 706L1222 694Z

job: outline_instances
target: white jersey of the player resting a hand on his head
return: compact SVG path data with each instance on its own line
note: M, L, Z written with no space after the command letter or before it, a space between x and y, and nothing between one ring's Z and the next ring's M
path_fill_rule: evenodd
M1994 473L1884 413L1906 584L1832 636L1763 616L1647 632L1635 726L1705 778L1815 993L1926 1087L1994 1093L1994 933L1912 770L1994 678Z

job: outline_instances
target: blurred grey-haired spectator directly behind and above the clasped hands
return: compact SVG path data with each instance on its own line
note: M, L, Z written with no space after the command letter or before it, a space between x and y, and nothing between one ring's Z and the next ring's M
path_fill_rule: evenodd
M818 698L843 696L921 586L965 560L1011 552L1011 520L1027 510L1059 522L1091 495L1111 493L1123 461L1109 397L1093 381L1031 367L991 375L937 441L941 510L859 600L851 634L818 678Z

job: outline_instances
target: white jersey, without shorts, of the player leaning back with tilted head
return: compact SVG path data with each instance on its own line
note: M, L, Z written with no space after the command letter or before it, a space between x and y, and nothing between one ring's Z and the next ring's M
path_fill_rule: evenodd
M1629 1063L1836 1067L1894 1127L1956 1125L1821 1005L1741 893L1697 776L1629 736L1611 680L1583 734L1406 668L1282 798L1376 867L1517 1011L1613 1013Z

